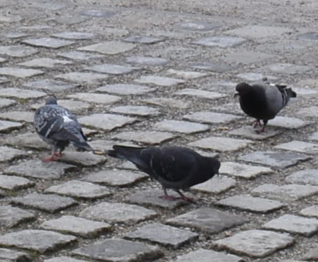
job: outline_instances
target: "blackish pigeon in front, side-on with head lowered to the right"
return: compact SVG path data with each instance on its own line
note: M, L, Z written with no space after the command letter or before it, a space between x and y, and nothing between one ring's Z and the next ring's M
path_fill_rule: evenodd
M108 150L109 156L125 159L134 163L138 169L159 181L164 195L162 198L174 200L167 194L167 189L176 191L184 201L193 202L180 192L191 186L203 183L218 174L220 161L217 158L205 157L192 149L175 146L131 147L114 145Z

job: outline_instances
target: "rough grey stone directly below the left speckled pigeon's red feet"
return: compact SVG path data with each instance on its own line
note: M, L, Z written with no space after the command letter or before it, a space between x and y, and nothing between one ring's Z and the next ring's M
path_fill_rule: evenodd
M6 173L17 174L20 176L40 178L40 179L59 179L75 166L59 162L43 162L41 160L28 160L9 166L4 170Z

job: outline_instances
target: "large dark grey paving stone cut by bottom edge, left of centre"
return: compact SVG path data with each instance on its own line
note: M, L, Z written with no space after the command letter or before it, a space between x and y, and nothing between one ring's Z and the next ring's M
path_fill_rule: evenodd
M89 246L80 247L72 253L90 259L111 262L153 260L162 255L162 251L157 246L120 238L97 241Z

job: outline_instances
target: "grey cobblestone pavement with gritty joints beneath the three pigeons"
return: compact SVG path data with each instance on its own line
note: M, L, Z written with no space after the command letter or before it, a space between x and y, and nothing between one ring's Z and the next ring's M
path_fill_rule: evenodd
M1 262L318 260L316 0L0 6ZM233 95L263 77L298 95L259 135ZM95 149L184 145L221 175L189 204L104 155L43 163L48 94Z

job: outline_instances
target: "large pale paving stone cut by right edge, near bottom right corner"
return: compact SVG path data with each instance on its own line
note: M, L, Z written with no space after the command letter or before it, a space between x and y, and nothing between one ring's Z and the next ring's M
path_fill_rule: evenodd
M311 237L318 231L318 219L286 214L265 223L263 228Z

